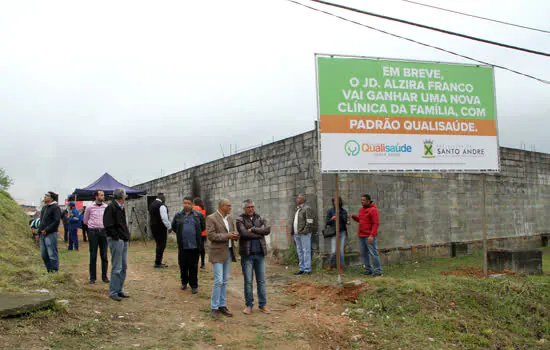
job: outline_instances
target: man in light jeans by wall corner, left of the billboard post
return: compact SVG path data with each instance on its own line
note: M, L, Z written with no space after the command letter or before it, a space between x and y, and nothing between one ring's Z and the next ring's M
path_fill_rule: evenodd
M306 197L299 194L296 198L296 212L292 221L291 234L296 243L300 270L295 275L311 274L311 234L314 228L314 218L311 208L306 204Z

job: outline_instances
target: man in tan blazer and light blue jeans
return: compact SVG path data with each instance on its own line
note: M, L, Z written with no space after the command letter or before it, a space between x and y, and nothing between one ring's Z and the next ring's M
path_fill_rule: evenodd
M233 241L239 239L239 234L235 232L235 222L229 216L230 213L231 202L221 199L218 202L218 210L206 218L206 233L210 241L209 260L214 269L210 313L213 319L220 318L220 314L233 316L226 304L226 292L231 262L237 261Z

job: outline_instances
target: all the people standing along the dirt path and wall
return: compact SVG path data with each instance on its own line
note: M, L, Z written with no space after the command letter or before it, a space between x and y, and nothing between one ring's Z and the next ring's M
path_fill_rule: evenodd
M39 228L40 250L48 272L59 269L57 253L57 232L61 219L61 211L57 204L58 196L48 192L44 196L44 206L41 211ZM90 279L96 281L97 252L101 258L101 277L103 282L109 283L109 297L116 301L129 297L124 291L124 282L128 266L128 241L130 232L127 226L126 211L124 208L126 192L123 188L113 192L113 200L106 204L103 191L94 193L94 202L86 208L82 224L88 228L90 249ZM241 268L244 277L245 308L244 314L252 313L254 307L253 280L256 280L259 310L270 313L267 308L265 286L265 257L268 254L266 236L271 233L265 218L256 212L253 200L243 201L243 211L235 219L230 215L232 204L228 199L218 202L218 209L206 215L204 204L200 198L186 196L183 198L183 209L176 213L170 221L166 198L159 193L149 206L150 228L156 242L155 268L166 268L163 263L167 236L173 232L178 245L178 265L180 269L181 289L192 294L198 292L199 259L201 268L204 268L206 241L209 245L209 261L214 271L214 284L211 297L211 316L214 319L220 315L232 316L226 302L227 283L230 278L231 262L236 261L236 255L241 259ZM296 244L300 269L296 275L311 274L311 235L315 231L315 216L306 204L304 195L298 195L297 208L292 220L291 234ZM340 239L341 239L341 268L344 266L344 246L347 240L347 226L350 224L348 213L339 199ZM362 208L359 215L352 215L352 219L359 222L359 244L365 274L372 276L382 275L382 267L376 237L380 224L378 210L369 195L363 195ZM334 200L333 200L334 204ZM70 208L71 206L69 206ZM73 207L73 213L76 214ZM78 213L78 211L76 212ZM336 223L334 205L327 211L326 225ZM69 220L70 224L70 220ZM69 227L69 239L72 234ZM78 245L76 246L78 247ZM108 259L107 247L111 251L111 278L107 277ZM237 249L238 248L238 249ZM335 265L336 237L331 237L331 268ZM372 265L370 261L372 260ZM330 268L329 268L330 269Z

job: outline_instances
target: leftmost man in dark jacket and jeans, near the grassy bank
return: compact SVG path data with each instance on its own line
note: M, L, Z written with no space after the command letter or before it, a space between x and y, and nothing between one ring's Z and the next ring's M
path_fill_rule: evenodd
M40 254L48 272L59 271L57 254L57 230L61 220L61 210L57 205L57 193L48 192L44 195L44 206L40 212Z

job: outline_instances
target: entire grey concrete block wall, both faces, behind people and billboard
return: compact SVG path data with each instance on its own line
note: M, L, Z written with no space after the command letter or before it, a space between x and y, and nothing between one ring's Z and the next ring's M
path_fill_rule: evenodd
M326 253L330 244L320 232L335 182L334 175L319 173L317 152L317 132L310 131L135 187L150 195L164 192L170 217L181 210L186 195L202 197L208 213L226 197L233 202L233 215L241 213L242 200L253 199L273 227L268 244L275 249L288 247L295 197L305 193L319 218L313 249ZM489 238L519 238L548 231L550 155L510 148L500 152L501 173L486 176ZM382 249L424 249L421 246L482 237L482 175L341 174L340 190L350 214L359 211L362 194L372 195L381 216L378 243ZM134 236L147 236L146 202L146 198L128 201ZM348 251L358 248L356 233L357 224L352 223Z

